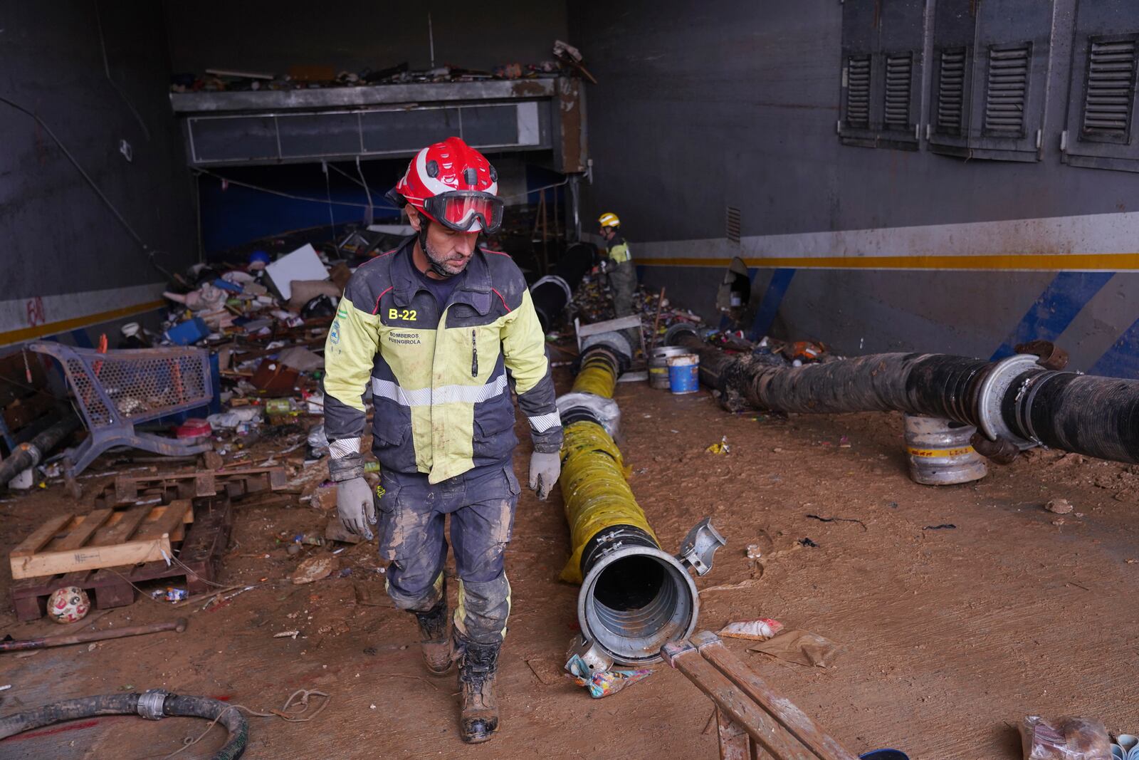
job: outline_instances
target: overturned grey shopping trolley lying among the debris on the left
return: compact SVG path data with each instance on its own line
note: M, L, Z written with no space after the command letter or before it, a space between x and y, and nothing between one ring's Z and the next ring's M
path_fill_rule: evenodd
M47 342L27 348L59 361L90 432L87 440L64 452L68 480L115 446L175 457L211 448L208 442L183 442L134 431L139 423L210 402L213 387L208 351L170 348L99 353Z

